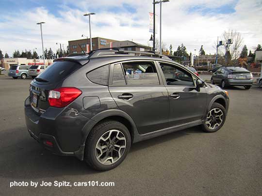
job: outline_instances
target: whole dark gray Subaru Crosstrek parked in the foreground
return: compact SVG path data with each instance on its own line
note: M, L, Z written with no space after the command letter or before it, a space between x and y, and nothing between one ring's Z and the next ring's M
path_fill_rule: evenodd
M30 135L97 170L118 166L131 143L202 125L219 130L227 91L150 52L95 50L55 60L30 84Z

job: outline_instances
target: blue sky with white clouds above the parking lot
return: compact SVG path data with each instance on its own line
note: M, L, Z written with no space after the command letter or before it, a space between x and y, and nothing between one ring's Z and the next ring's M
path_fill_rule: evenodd
M44 47L58 48L56 42L89 36L133 40L148 44L152 0L0 0L0 49L12 55L15 49L42 53L40 27L44 21ZM162 5L162 40L173 50L183 43L188 52L201 45L207 53L224 30L237 30L248 49L262 44L262 0L170 0ZM156 5L159 15L159 4ZM157 34L157 36L159 33Z

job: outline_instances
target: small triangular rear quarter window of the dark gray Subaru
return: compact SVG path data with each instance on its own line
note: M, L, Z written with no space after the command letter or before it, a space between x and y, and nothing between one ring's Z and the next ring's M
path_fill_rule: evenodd
M87 73L86 76L91 82L101 85L107 85L108 70L109 70L109 65L105 65Z

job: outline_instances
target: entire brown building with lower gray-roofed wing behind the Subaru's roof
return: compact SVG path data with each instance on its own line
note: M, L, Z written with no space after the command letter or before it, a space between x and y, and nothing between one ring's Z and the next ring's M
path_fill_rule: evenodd
M94 37L92 38L92 49L121 47L125 50L132 51L149 51L150 47L147 45L138 44L132 41L117 41L107 38ZM72 40L68 41L69 53L88 53L90 51L90 39Z

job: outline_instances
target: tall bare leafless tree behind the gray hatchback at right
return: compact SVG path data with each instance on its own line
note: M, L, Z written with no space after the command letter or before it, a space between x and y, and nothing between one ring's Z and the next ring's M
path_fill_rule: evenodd
M232 44L227 45L226 43L228 43L229 39L231 39ZM225 30L219 40L223 41L224 45L218 48L218 53L221 56L225 56L226 51L228 51L231 57L228 59L228 63L231 64L232 61L239 57L240 49L242 48L243 38L241 33L236 30ZM216 47L216 43L214 47Z

